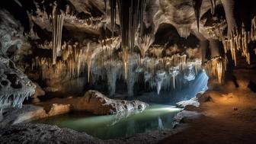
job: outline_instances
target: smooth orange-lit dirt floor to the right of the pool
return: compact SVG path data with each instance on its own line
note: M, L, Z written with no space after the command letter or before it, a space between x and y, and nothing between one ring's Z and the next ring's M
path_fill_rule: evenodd
M206 93L213 100L201 104L198 111L204 116L158 143L255 143L256 94L240 90Z

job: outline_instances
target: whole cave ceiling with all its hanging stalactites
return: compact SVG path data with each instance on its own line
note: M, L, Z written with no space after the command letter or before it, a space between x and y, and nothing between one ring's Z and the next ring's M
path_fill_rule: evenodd
M202 69L222 83L227 63L237 66L238 54L251 63L251 43L256 40L251 4L10 0L1 4L1 55L52 89L83 75L88 83L107 81L110 95L120 78L130 95L139 81L149 82L159 93L180 85L176 78L190 81Z

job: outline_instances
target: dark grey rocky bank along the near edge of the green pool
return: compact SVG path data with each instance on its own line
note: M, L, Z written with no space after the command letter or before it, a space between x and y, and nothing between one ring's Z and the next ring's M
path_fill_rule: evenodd
M16 124L0 128L1 143L157 143L160 139L178 133L184 127L178 130L161 130L152 133L139 133L121 139L101 140L89 136L86 133L79 133L75 130L62 129L58 126L46 124Z

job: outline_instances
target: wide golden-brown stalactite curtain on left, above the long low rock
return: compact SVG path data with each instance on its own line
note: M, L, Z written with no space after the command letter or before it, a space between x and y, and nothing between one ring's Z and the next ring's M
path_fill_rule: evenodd
M101 43L101 46L99 43ZM89 82L92 59L94 59L97 54L101 53L110 56L113 53L113 50L120 46L120 37L99 40L99 43L96 43L94 46L90 46L91 43L82 44L78 42L72 43L64 41L59 53L57 54L58 60L55 65L52 64L50 57L37 56L34 59L34 62L32 62L32 67L39 67L42 71L42 78L45 79L48 77L47 74L49 71L53 71L55 73L62 71L62 74L68 74L69 77L76 77L84 72L84 69L87 66ZM51 45L52 42L45 42L44 44L37 45L37 47L39 49L49 50ZM101 59L99 61L101 62ZM97 64L102 66L101 63Z

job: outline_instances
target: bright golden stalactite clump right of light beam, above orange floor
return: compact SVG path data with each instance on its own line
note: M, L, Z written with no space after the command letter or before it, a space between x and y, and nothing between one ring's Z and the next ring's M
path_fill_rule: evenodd
M222 84L222 78L224 78L224 72L226 72L226 58L221 56L211 59L205 63L205 70L208 76L215 77L219 84Z

